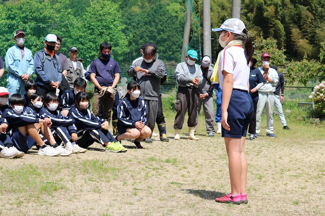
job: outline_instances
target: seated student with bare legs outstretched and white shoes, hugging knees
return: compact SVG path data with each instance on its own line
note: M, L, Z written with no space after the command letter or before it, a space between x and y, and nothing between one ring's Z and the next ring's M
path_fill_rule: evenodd
M51 127L51 119L39 119L34 116L26 116L24 111L25 99L20 94L13 94L9 98L10 108L7 109L3 117L7 119L9 123L8 129L12 128L12 141L14 146L26 153L29 150L29 145L27 145L28 135L34 139L40 146L38 155L47 155L47 156L66 156L70 155L72 152L69 152L59 145L54 140L54 137L51 133L49 127ZM38 130L41 129L44 137L49 141L50 146L45 145L43 142Z

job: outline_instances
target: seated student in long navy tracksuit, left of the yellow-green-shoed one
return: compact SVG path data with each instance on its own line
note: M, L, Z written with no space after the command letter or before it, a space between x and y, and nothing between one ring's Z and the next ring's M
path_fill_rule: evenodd
M86 152L86 149L80 148L75 142L77 139L77 128L74 125L75 120L63 116L63 114L57 110L58 103L59 98L55 93L47 93L44 98L44 107L39 113L41 119L51 119L51 131L52 133L54 132L54 139L63 142L64 149L72 151L73 153Z

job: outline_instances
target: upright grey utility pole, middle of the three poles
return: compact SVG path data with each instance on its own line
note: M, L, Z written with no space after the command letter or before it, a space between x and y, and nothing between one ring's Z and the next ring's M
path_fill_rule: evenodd
M203 55L211 56L210 0L203 0Z

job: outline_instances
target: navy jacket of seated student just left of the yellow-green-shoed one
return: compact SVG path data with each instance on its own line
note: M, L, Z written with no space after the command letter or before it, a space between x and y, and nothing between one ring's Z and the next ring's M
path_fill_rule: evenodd
M60 113L58 110L50 111L46 109L45 107L41 108L39 115L41 119L50 118L52 121L53 128L56 127L68 127L68 130L71 133L77 133L77 128L74 125L75 120L63 116L62 113Z

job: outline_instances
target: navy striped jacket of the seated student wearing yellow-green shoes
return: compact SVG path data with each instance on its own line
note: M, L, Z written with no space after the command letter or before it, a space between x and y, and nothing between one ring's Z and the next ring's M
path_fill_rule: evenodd
M79 110L76 105L73 105L68 114L69 118L74 119L75 125L79 130L93 130L101 129L102 124L106 121L95 117L93 113L89 110Z

